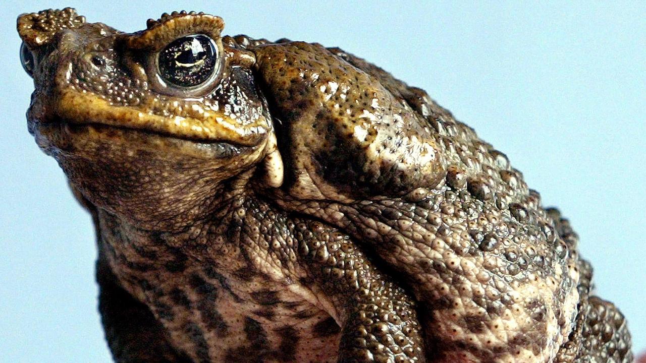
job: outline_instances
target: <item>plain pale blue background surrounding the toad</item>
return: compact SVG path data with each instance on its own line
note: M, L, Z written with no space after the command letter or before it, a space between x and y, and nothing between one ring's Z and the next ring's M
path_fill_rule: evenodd
M56 6L125 31L202 10L222 16L226 34L339 46L428 90L571 219L598 291L646 348L645 3L31 3L0 12L0 361L109 362L90 218L25 126L32 84L16 16Z

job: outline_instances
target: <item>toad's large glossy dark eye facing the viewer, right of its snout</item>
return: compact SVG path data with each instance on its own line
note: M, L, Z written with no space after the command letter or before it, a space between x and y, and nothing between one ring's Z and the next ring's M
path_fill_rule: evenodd
M196 34L181 37L163 48L158 64L161 78L180 87L204 83L216 68L213 39Z

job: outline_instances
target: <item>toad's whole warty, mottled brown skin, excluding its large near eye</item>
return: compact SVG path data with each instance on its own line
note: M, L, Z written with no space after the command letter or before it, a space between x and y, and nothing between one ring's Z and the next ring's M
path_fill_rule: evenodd
M18 19L29 130L94 216L116 362L632 361L505 154L339 48L223 26ZM156 57L191 34L217 71L174 87Z

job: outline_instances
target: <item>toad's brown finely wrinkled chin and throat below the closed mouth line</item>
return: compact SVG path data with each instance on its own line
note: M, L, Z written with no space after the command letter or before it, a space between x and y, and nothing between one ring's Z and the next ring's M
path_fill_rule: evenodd
M208 214L222 181L263 151L94 123L52 121L30 129L90 204L151 228L169 208L177 218Z

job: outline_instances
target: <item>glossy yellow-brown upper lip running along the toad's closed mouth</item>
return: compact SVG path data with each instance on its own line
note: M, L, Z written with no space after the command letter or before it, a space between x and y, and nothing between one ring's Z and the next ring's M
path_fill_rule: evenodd
M225 114L214 113L191 118L160 116L133 107L111 105L92 94L64 90L56 104L56 118L76 124L101 124L121 129L134 129L202 143L226 142L233 145L256 146L267 134L268 123L258 116L253 123L240 126Z

